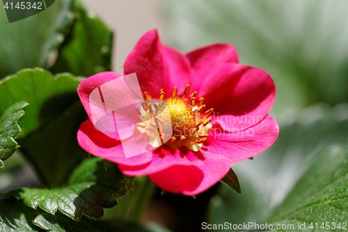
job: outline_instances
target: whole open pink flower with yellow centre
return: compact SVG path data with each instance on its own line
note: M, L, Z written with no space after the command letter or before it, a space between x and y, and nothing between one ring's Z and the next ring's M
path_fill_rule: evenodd
M153 137L153 128L139 123L139 117L148 119L143 116L148 105L125 114L124 122L131 126L122 138L118 132L96 130L89 95L122 75L102 72L84 79L78 92L90 120L79 128L79 145L117 163L125 175L148 175L167 192L199 194L226 176L231 164L261 153L278 136L278 124L268 115L276 96L273 80L260 68L239 64L232 45L209 45L185 55L162 45L157 31L149 31L127 57L124 72L136 73L145 98L161 95L172 119L184 118L170 125L173 136L165 144L156 147L152 141L148 151L126 157L120 139L134 143L136 151L149 141L139 138Z

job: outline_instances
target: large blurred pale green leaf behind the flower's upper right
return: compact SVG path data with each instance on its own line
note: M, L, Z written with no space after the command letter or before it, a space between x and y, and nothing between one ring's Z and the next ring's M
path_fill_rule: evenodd
M345 0L170 0L166 15L175 47L231 43L241 63L269 72L280 112L347 102L347 7Z

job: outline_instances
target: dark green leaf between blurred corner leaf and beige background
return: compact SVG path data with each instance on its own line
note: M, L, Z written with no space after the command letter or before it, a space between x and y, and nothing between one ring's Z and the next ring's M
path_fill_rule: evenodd
M58 50L51 72L72 72L90 77L111 70L113 31L95 13L74 1L74 24Z

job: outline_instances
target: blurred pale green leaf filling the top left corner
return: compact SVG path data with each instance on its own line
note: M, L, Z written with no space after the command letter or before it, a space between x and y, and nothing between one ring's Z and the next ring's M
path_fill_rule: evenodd
M71 0L56 1L41 13L13 23L0 9L0 79L22 68L52 65L72 24L71 5Z

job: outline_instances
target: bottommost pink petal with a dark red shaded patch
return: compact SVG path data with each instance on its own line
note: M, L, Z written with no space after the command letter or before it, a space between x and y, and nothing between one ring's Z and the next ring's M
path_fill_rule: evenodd
M203 151L205 157L201 166L175 165L149 177L161 189L184 195L196 195L209 189L226 176L230 170L230 160L219 154Z

